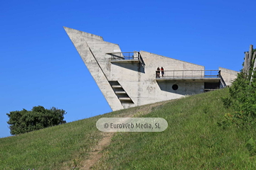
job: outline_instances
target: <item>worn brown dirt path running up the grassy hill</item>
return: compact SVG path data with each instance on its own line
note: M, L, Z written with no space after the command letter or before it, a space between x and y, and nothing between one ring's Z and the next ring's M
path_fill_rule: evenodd
M126 118L138 117L139 115L146 115L152 111L152 108L156 106L161 106L164 103L168 103L169 101L163 101L159 103L153 103L146 106L140 106L137 111L133 114L125 115ZM123 118L124 118L123 117ZM103 138L100 142L92 149L90 152L90 158L86 159L84 162L81 162L82 167L80 169L87 170L90 169L93 165L97 163L97 161L102 157L102 150L105 149L108 145L110 145L111 138L115 132L102 132Z

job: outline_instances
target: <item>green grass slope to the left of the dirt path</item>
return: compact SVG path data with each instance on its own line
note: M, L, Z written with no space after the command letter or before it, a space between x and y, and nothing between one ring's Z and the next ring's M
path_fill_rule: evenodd
M99 118L124 117L138 108L0 139L0 169L73 169L102 139Z

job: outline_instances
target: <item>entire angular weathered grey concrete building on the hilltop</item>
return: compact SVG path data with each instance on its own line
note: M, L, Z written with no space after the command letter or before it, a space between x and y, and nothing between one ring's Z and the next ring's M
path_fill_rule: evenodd
M199 94L204 91L204 82L211 81L210 79L156 81L157 67L164 67L164 70L204 70L204 67L145 51L139 52L142 56L139 63L111 62L111 56L107 53L121 52L119 45L105 42L98 35L79 30L65 28L65 31L113 111ZM230 84L236 72L223 68L220 70L223 79ZM201 76L201 72L196 75ZM112 89L111 84L122 88ZM173 89L175 84L178 89ZM132 101L129 101L131 99Z

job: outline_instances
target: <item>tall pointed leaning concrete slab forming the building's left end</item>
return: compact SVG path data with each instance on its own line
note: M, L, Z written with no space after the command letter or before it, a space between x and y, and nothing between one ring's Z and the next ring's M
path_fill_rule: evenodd
M107 75L110 75L110 58L105 57L106 52L120 50L119 46L110 42L105 42L98 35L84 33L72 28L64 28L112 110L117 111L122 109L122 104L114 94L114 91L107 80Z

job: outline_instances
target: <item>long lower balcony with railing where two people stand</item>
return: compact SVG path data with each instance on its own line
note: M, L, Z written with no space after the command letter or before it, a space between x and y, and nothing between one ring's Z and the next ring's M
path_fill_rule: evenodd
M156 81L220 82L220 70L164 70L156 71Z

